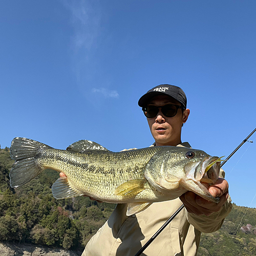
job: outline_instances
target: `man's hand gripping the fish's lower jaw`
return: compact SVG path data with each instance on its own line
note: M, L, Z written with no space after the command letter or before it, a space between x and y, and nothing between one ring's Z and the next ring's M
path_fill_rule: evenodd
M225 179L219 178L217 182L211 186L207 183L204 183L204 185L213 197L220 198L220 202L218 204L212 203L196 195L194 192L187 191L185 194L180 196L180 200L183 202L185 208L190 212L190 214L209 216L213 212L219 211L227 201L228 183Z

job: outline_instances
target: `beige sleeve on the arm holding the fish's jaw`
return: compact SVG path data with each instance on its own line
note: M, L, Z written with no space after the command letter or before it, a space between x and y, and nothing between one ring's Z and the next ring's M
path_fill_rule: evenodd
M220 177L225 177L225 172L223 169L220 171ZM210 216L197 216L195 214L190 214L186 211L186 216L188 222L193 225L196 229L204 233L215 232L221 228L224 219L229 215L232 209L231 198L228 196L227 201L223 207L218 212L212 213Z

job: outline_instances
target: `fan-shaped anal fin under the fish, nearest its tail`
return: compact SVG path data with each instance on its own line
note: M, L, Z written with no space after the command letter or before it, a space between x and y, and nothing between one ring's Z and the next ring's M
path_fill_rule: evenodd
M77 189L72 188L67 177L58 178L52 185L52 194L56 199L83 196Z

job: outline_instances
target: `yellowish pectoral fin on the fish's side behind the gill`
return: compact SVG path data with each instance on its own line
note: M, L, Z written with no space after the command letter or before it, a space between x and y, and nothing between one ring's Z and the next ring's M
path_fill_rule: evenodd
M115 195L122 196L122 197L124 196L134 197L145 189L144 187L145 182L146 182L145 179L126 181L115 189Z

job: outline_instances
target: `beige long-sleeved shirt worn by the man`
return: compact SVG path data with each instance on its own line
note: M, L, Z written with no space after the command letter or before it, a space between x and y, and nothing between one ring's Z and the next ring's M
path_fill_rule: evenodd
M187 142L178 146L190 147ZM221 170L220 177L224 178L224 175ZM181 205L179 198L153 203L127 217L127 205L118 204L109 220L91 238L82 256L134 256ZM218 230L231 208L230 198L219 212L208 217L189 214L183 208L141 255L196 255L201 232Z

